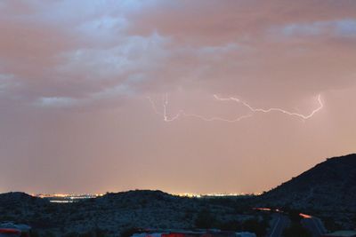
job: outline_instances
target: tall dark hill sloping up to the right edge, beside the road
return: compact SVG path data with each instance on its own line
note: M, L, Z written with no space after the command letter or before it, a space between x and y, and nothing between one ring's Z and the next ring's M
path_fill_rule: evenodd
M356 154L329 158L259 199L297 209L356 211Z

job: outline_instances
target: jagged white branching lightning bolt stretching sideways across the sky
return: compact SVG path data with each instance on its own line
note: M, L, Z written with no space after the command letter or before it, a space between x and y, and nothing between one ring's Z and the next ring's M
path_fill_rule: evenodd
M183 110L180 110L176 115L168 115L167 113L167 107L169 106L169 102L168 102L168 94L165 94L163 99L162 99L162 107L163 107L163 112L159 112L156 103L150 99L150 97L148 98L150 100L150 104L154 110L154 112L157 115L161 115L163 116L163 120L165 122L173 122L174 120L179 119L180 117L194 117L194 118L198 118L200 120L206 121L206 122L213 122L213 121L221 121L221 122L239 122L242 119L246 119L248 117L251 117L252 115L254 115L255 113L272 113L272 112L277 112L277 113L281 113L281 114L285 114L285 115L289 115L289 116L295 116L297 118L302 119L303 121L312 118L313 115L315 115L316 113L318 113L323 107L323 103L321 101L321 95L318 95L318 103L319 106L316 107L315 109L312 110L312 112L308 115L303 115L303 114L299 114L299 113L295 113L295 112L289 112L287 110L284 110L282 108L279 107L271 107L271 108L255 108L250 106L249 104L247 104L247 102L242 101L241 99L235 98L235 97L229 97L229 98L221 98L217 95L214 95L214 99L216 99L217 101L233 101L236 103L239 103L241 105L243 105L244 107L247 107L247 109L249 110L249 113L247 115L241 115L239 117L236 117L234 119L226 119L226 118L222 118L222 117L206 117L206 116L202 116L202 115L196 115L196 114L188 114L186 112L184 112Z

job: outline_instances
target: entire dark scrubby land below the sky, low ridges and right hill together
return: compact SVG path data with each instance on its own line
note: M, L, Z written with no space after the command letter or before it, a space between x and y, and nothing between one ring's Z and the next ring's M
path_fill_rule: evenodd
M356 154L330 158L260 196L198 199L137 190L64 204L0 194L0 221L28 224L34 236L125 236L133 228L219 228L265 236L290 225L290 218L256 207L308 213L328 230L356 228Z

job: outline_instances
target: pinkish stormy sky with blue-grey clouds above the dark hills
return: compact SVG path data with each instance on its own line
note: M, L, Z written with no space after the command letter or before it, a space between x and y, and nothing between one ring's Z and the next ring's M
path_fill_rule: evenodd
M355 102L353 0L0 1L0 193L268 191Z

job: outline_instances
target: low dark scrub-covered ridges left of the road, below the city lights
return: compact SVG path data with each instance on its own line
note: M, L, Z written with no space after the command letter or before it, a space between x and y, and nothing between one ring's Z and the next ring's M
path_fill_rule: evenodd
M118 236L131 228L191 229L240 224L255 216L234 199L184 198L161 191L129 191L73 203L23 193L0 195L1 221L25 223L39 233L101 230ZM231 224L232 223L232 224Z

